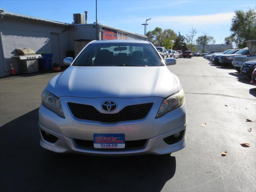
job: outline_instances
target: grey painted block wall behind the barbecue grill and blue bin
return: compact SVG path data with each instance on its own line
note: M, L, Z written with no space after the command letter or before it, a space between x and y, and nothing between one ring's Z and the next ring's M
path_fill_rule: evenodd
M4 64L10 70L9 61L12 60L14 68L18 70L18 59L12 58L16 55L16 48L31 48L36 52L52 52L50 34L58 34L60 61L66 57L66 51L70 50L70 30L66 30L68 26L57 26L53 24L46 24L39 21L12 18L4 16L0 21L0 32L3 46L4 57L3 61L0 59L0 76L8 75L9 72L4 70ZM0 49L2 47L0 46ZM0 50L1 52L2 50ZM4 63L2 63L4 62ZM62 64L62 63L60 63Z

